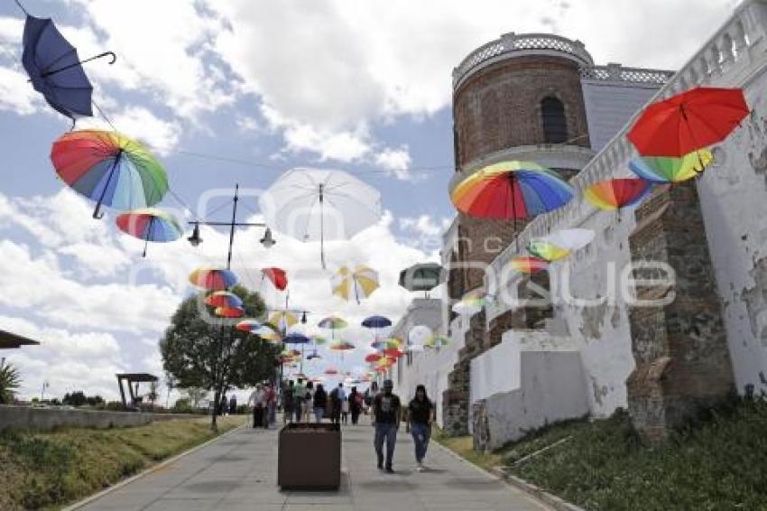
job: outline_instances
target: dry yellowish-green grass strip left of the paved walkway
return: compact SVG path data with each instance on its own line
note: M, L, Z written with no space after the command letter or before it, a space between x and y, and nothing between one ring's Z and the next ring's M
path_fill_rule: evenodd
M245 415L218 419L219 432ZM216 436L210 419L0 434L0 509L57 509Z

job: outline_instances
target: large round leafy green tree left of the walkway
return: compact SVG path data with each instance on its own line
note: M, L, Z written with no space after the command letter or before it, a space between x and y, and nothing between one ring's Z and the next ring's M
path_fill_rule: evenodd
M232 292L243 299L247 317L263 315L265 306L258 293L249 293L241 286ZM180 303L160 340L160 351L162 366L176 379L177 386L213 390L215 405L210 426L215 430L221 395L233 387L254 386L272 377L279 348L258 336L236 330L231 321L209 321L209 316L206 318L201 313L200 308L204 306L200 303L199 296Z

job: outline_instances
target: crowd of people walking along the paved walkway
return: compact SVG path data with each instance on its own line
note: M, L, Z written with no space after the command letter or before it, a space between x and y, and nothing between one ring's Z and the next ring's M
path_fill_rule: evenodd
M273 386L259 384L248 399L248 405L253 406L254 428L268 428L275 423L278 399L285 423L309 423L312 420L321 423L328 417L331 423L346 424L351 415L351 423L357 424L360 414L369 408L375 431L373 444L377 466L388 473L393 473L397 432L404 422L405 431L411 433L415 445L417 469L425 469L423 460L429 449L434 420L434 404L426 394L425 386L416 386L415 396L403 408L400 397L393 393L392 380L384 381L383 390L373 382L364 395L356 387L347 394L342 384L328 393L322 384L315 387L312 382L304 384L300 378L289 381L279 395Z

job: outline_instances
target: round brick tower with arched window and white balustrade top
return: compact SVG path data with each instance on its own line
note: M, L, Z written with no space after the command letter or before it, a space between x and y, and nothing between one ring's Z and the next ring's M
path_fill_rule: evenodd
M508 33L472 51L453 70L456 173L504 160L540 163L568 179L593 157L580 68L594 64L582 42L551 34ZM517 222L517 230L524 222ZM490 263L514 236L512 221L459 214L454 262ZM483 283L480 269L454 272L457 298Z

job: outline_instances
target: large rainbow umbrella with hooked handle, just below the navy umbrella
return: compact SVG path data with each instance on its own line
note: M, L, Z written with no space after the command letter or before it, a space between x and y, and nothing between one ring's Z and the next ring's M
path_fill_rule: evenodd
M116 132L70 131L53 143L51 162L61 180L101 206L154 206L168 191L168 175L143 144Z

